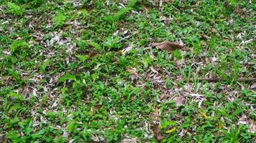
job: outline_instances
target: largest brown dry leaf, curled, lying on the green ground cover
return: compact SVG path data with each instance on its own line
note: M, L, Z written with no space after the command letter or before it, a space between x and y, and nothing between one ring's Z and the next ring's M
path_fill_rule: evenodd
M165 40L160 43L153 43L152 46L155 46L157 49L167 50L167 51L173 51L175 49L181 49L183 47L182 44L170 42L168 40Z

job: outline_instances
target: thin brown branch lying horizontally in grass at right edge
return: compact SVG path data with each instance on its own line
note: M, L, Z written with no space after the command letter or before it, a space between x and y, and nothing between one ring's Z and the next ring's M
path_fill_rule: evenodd
M190 82L193 82L193 79L189 80ZM218 77L214 77L214 78L198 78L199 82L227 82L226 79L219 79ZM235 80L237 82L256 82L256 78L250 77L250 78L246 78L246 77L241 77L238 78L237 80Z

